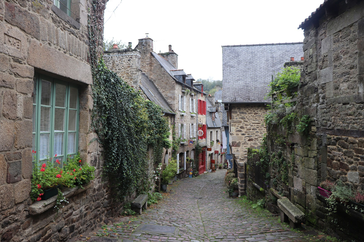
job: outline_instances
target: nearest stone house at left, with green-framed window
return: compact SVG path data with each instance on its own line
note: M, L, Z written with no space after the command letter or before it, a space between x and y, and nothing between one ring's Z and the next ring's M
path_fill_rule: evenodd
M65 241L107 222L120 208L100 180L102 147L90 143L96 138L90 132L91 1L67 6L0 1L1 241ZM55 222L55 197L33 203L29 197L32 150L35 160L58 154L61 163L80 152L83 162L97 167L85 189L63 191L69 204Z

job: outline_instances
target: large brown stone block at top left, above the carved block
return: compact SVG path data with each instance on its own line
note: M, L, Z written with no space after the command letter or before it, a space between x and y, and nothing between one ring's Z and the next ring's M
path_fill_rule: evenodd
M24 30L25 33L40 39L39 17L16 4L5 2L4 19L11 25Z

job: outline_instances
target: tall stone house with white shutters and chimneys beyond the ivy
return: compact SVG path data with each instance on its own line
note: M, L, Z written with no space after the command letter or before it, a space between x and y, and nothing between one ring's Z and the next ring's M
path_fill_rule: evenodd
M104 52L106 65L129 85L141 89L150 100L161 102L157 104L164 107L176 138L180 138L177 151L178 177L185 177L191 165L187 158L197 160L194 157L196 142L206 146L206 138L200 139L197 135L199 129L206 128L206 117L200 112L202 106L206 106L206 94L200 86L194 86L191 74L187 75L183 69L178 69L178 55L171 45L169 52L157 54L153 51L153 40L149 37L139 39L134 49L129 44L130 47L125 50ZM143 78L149 81L142 81ZM153 86L154 91L149 91L146 83ZM157 93L158 98L151 94L153 92ZM165 152L165 163L170 158L171 150ZM206 171L205 159L199 162L197 169L199 167L202 172Z

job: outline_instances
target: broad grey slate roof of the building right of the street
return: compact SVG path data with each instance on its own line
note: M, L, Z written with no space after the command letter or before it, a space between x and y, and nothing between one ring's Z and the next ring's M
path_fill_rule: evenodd
M294 57L303 57L303 43L222 46L222 102L268 102L272 75Z

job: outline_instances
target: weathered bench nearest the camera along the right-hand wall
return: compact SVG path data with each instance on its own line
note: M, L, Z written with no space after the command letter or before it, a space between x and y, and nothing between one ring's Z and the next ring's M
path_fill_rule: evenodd
M281 223L288 222L293 229L300 226L305 219L305 214L300 209L292 204L288 198L277 200L278 207L281 210Z

